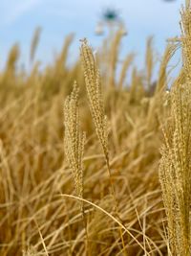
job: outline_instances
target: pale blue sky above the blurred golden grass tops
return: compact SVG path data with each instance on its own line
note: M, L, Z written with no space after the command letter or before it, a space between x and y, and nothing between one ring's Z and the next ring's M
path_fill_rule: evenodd
M123 38L122 52L135 52L139 63L149 35L154 35L159 54L167 38L180 35L182 3L183 0L1 0L0 67L15 42L21 46L21 61L29 62L32 34L38 26L42 28L42 35L37 58L44 63L53 61L64 37L70 33L75 34L72 58L78 56L80 38L87 37L96 48L102 40L102 36L95 34L96 24L108 7L118 10L128 31Z

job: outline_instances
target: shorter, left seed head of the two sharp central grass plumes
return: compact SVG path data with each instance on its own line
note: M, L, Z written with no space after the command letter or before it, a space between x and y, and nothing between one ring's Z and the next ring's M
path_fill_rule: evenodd
M73 92L65 100L64 105L64 146L66 157L74 176L75 190L78 197L83 198L83 153L85 133L79 129L78 109L79 88L74 82Z

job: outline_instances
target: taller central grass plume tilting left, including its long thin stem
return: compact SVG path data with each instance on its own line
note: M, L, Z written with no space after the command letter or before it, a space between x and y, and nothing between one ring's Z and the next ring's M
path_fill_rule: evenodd
M87 90L88 99L89 99L89 105L90 105L93 121L96 127L96 135L99 139L102 150L104 152L107 170L110 178L110 184L112 188L112 194L115 200L117 218L119 219L117 197L116 197L116 192L115 192L115 187L114 187L111 167L110 167L109 145L108 145L108 122L107 122L107 116L105 115L104 106L103 106L100 75L96 67L96 59L94 58L92 48L88 45L88 42L86 39L82 40L80 50L81 50L82 64L84 68L84 77L85 77L86 90ZM126 253L121 229L120 229L120 237L121 237L121 242L123 244L124 251Z

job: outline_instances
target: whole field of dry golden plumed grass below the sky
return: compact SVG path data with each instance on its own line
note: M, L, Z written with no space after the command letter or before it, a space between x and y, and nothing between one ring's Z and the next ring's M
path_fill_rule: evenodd
M67 36L43 70L39 35L30 73L17 44L0 73L0 255L190 256L191 2L155 82L153 37L144 70L128 53L118 73L121 30L73 65Z

